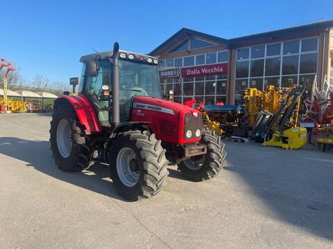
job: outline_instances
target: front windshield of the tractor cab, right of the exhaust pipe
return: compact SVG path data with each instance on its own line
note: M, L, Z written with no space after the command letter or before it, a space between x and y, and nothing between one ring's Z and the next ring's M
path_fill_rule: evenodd
M130 100L134 95L160 98L157 66L119 60L120 99Z

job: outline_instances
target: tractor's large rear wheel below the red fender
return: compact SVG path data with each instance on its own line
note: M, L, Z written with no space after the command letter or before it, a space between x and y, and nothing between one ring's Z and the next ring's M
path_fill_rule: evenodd
M52 156L62 171L77 172L94 164L90 138L80 126L73 107L56 107L50 124Z

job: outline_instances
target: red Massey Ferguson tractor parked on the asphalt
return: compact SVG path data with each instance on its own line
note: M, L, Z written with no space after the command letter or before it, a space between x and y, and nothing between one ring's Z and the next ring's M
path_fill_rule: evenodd
M199 111L161 99L158 59L119 50L85 55L78 95L54 102L50 142L60 169L110 165L124 199L137 201L166 184L168 165L192 181L216 176L225 145L203 129Z

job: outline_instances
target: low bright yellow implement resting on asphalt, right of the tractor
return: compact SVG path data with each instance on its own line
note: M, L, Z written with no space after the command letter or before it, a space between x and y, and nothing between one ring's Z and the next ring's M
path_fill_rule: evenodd
M293 127L282 133L274 133L273 138L264 142L264 146L282 147L283 149L299 149L307 144L307 129L304 127Z

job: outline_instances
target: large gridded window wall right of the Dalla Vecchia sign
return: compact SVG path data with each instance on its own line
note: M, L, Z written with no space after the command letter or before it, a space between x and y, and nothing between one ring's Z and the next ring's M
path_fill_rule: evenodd
M235 103L244 89L268 84L303 84L311 88L317 73L318 37L237 49Z

